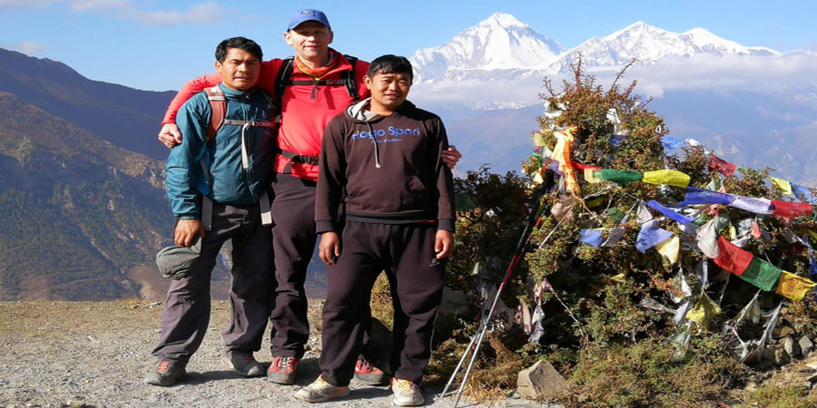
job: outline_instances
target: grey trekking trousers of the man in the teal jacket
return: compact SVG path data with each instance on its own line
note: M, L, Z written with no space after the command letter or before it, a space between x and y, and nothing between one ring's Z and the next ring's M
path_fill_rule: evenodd
M173 280L162 311L157 358L187 362L210 323L210 279L221 246L232 239L230 322L221 333L228 351L256 352L271 311L272 233L261 225L258 205L212 203L212 230L190 275Z

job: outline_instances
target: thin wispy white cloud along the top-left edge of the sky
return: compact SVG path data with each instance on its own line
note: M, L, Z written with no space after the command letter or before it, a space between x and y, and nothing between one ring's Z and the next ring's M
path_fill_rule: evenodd
M218 24L221 23L224 15L235 14L214 1L192 5L183 11L144 11L139 9L132 0L0 0L0 8L43 5L66 5L69 10L77 13L100 13L146 25Z

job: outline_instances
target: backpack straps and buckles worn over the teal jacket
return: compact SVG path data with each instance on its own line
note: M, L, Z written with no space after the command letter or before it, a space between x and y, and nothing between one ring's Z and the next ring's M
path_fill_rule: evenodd
M227 119L227 98L224 97L224 92L221 91L219 85L212 86L210 88L204 88L204 92L207 95L207 101L210 102L210 123L207 125L207 131L205 131L205 144L212 143L215 140L216 133L221 129L221 126L225 124L231 125L238 125L241 126L241 167L243 169L250 168L250 158L247 154L247 147L244 144L246 138L244 137L244 131L247 131L247 128L250 127L262 127L262 128L274 128L275 123L273 121L241 121L237 119ZM267 107L270 109L271 112L276 112L276 105L272 100L271 96L267 92L262 92L264 97L267 99ZM210 184L210 169L204 163L204 157L202 156L202 170L204 171L204 179L207 180L207 183ZM272 213L271 213L271 206L270 206L270 195L264 191L259 198L259 205L261 206L261 224L263 225L271 225L272 224ZM205 230L212 229L212 199L207 197L202 197L202 224L204 224Z

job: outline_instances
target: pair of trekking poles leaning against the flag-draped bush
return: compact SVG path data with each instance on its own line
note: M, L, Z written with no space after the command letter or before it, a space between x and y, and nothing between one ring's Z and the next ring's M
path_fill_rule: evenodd
M510 280L510 277L513 274L514 269L517 267L517 264L522 259L522 256L525 253L525 246L530 241L531 232L533 231L533 229L538 228L539 225L542 222L541 217L536 219L536 214L538 213L539 206L540 206L541 201L542 201L542 197L545 195L545 192L546 192L547 189L550 189L550 188L553 187L553 183L554 183L554 172L553 172L553 170L548 169L548 170L545 171L545 180L544 180L544 182L536 189L533 208L531 209L530 214L528 215L528 218L527 218L526 223L525 223L525 228L522 230L522 236L519 237L519 242L517 243L517 248L514 250L514 256L511 257L511 261L507 266L507 271L505 273L505 277L502 279L502 283L499 284L499 287L497 288L497 296L494 297L494 302L491 304L491 307L488 310L487 316L485 316L482 319L482 322L480 323L479 327L477 328L477 333L475 333L471 337L471 342L470 342L470 344L468 344L468 348L466 348L466 351L463 353L462 358L459 359L459 363L457 364L457 367L454 369L454 373L451 374L451 378L448 379L448 384L446 384L446 387L443 389L443 393L441 394L441 396L445 396L446 393L448 393L448 388L451 386L451 384L454 383L454 379L457 377L457 374L459 373L459 370L462 367L462 364L465 362L465 359L468 357L468 353L471 351L471 347L473 346L474 351L473 351L473 354L471 355L471 360L468 362L468 368L466 368L466 373L463 376L462 384L459 385L459 389L458 389L458 392L457 392L457 400L454 402L454 407L455 408L457 408L457 405L459 403L459 399L462 396L462 392L465 389L466 384L468 383L468 376L471 373L471 369L474 366L474 362L477 360L477 355L479 353L479 347L482 345L482 341L485 339L485 334L487 333L487 325L490 323L491 317L494 316L494 312L497 309L497 303L499 302L499 296L502 295L502 291L507 286L507 282L508 282L508 280ZM533 223L534 219L536 219L536 225L533 228L531 228L531 224ZM475 346L475 343L476 343L476 346Z

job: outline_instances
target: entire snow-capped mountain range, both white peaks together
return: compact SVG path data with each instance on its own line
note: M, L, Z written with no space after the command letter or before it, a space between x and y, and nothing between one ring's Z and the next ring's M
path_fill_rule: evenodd
M737 44L704 28L674 33L640 21L566 50L515 16L495 13L455 35L446 44L418 50L411 57L411 63L418 82L516 79L566 73L569 64L575 63L580 54L587 68L615 69L634 58L637 64L649 65L671 56L779 53L765 47Z

